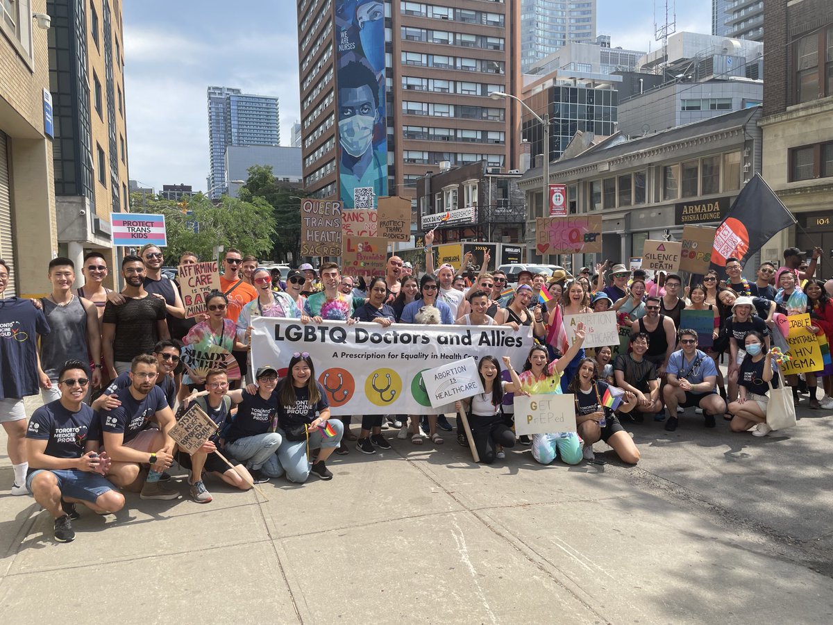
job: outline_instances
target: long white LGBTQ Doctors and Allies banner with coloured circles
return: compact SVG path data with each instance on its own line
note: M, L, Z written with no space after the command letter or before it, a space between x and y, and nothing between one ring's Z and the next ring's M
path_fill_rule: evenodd
M506 354L521 369L532 347L531 328L421 326L397 323L308 323L252 319L252 367L286 375L292 354L308 352L333 415L436 414L422 374L463 358ZM453 400L447 410L453 412Z

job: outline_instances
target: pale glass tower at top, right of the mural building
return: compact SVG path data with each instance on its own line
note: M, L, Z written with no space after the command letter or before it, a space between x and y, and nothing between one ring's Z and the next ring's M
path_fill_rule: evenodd
M596 40L596 0L521 0L521 71L568 42Z

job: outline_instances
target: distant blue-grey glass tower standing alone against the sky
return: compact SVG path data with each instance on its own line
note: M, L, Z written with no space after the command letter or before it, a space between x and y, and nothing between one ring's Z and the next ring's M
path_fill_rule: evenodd
M230 145L280 145L277 97L243 93L232 87L208 87L208 153L211 172L207 196L219 198L228 189L224 158Z

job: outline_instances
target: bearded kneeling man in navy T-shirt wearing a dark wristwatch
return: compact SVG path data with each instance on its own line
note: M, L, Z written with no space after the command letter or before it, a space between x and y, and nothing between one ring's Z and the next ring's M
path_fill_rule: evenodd
M162 472L173 462L174 442L168 433L175 421L165 393L156 384L157 368L157 359L150 354L133 358L130 386L110 396L120 405L102 409L99 418L104 448L112 458L112 482L128 491L141 489L142 499L178 499L179 493L159 483ZM149 428L154 416L161 429ZM150 465L143 487L142 464Z

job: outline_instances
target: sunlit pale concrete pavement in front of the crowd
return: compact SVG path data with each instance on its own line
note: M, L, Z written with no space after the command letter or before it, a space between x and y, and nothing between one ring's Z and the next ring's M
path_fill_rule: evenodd
M476 466L451 433L417 448L388 430L390 451L333 456L331 482L129 495L68 544L7 495L4 459L2 622L833 622L833 417L800 414L762 439L691 410L675 433L627 426L637 468L601 443L605 466L525 447Z

